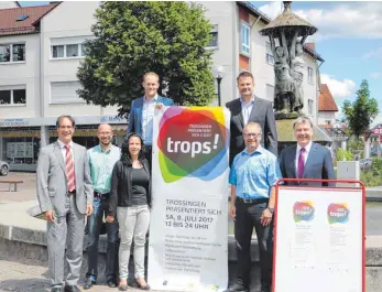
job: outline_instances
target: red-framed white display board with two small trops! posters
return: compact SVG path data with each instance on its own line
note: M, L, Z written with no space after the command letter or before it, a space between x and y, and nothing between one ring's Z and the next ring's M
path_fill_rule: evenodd
M364 292L362 188L279 186L274 292Z

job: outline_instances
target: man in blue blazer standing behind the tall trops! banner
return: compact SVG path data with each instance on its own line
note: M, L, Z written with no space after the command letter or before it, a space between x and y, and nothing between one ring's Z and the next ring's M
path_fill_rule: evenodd
M143 153L151 170L154 110L155 108L161 109L163 106L173 106L174 100L157 95L160 76L156 73L149 72L144 74L142 86L144 96L134 99L131 104L127 134L135 132L142 137L144 142Z

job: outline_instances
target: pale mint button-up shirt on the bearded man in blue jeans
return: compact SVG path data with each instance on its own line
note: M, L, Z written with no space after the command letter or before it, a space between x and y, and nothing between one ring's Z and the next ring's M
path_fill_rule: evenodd
M99 144L88 150L90 176L95 192L106 194L110 192L111 173L114 164L121 158L121 150L111 145L103 150Z

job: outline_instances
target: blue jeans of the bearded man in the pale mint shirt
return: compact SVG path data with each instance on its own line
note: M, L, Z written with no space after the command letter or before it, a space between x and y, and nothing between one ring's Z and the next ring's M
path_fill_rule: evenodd
M94 198L94 210L88 218L88 272L86 277L90 278L92 281L97 281L97 263L98 263L98 240L99 232L102 226L103 216L109 207L109 198ZM118 223L106 223L106 231L108 239L108 248L106 253L106 280L114 280L118 275L116 272L116 267L118 267L118 248L119 248L119 237L118 237Z

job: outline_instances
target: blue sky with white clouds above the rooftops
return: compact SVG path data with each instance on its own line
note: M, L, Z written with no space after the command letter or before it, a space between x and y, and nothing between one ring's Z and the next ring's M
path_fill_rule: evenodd
M21 6L48 2L21 1ZM282 12L280 1L252 1L271 19ZM327 84L340 110L345 100L354 101L362 82L370 96L382 105L382 1L293 1L292 11L318 29L309 36L325 60L321 83ZM373 125L382 123L382 106Z

